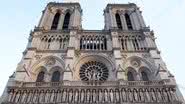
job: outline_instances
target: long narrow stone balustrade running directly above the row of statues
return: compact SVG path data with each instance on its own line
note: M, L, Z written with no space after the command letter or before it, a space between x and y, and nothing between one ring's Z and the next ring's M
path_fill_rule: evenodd
M62 86L164 86L173 85L170 80L160 81L107 81L107 82L82 82L82 81L62 81L62 82L12 82L9 87L62 87Z

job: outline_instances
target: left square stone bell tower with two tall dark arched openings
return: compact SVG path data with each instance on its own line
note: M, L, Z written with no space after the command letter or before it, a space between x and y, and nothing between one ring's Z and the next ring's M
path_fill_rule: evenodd
M82 10L78 3L49 3L43 11L39 28L45 30L81 29Z

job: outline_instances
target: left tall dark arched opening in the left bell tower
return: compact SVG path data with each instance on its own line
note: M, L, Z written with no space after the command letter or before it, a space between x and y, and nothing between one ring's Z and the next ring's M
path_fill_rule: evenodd
M59 19L60 19L60 13L57 12L54 16L53 23L52 23L52 26L51 26L51 30L56 30L57 29Z

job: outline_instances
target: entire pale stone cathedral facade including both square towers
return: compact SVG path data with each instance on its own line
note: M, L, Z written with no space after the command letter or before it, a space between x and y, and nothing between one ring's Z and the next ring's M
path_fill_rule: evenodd
M84 30L79 3L49 3L1 103L184 104L139 8L108 4L104 17Z

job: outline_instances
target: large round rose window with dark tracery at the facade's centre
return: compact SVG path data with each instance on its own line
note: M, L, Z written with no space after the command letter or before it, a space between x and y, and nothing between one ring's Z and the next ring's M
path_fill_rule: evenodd
M82 81L105 81L109 75L109 70L105 64L90 61L80 67L80 78Z

